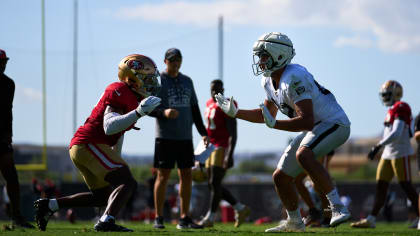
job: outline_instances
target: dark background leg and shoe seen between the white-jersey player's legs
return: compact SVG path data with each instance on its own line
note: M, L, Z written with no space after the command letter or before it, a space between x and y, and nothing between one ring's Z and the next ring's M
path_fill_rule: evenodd
M321 211L318 210L315 207L315 203L306 188L304 184L304 180L306 178L307 174L302 172L295 178L295 186L296 190L299 193L299 196L302 198L302 200L305 202L305 204L309 208L309 214L303 219L303 223L305 223L305 226L311 225L311 224L319 224L321 220Z

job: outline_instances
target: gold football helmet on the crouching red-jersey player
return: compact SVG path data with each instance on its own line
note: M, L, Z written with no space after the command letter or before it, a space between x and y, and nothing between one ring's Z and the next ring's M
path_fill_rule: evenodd
M156 64L144 55L128 55L118 65L118 79L144 98L157 94L160 89L159 76Z

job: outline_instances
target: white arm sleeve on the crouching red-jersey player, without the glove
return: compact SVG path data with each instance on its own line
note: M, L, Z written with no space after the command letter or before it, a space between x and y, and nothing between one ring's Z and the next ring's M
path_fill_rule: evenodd
M136 110L130 111L125 115L116 112L109 112L104 115L104 131L106 135L113 135L126 130L136 123L140 117L137 116Z

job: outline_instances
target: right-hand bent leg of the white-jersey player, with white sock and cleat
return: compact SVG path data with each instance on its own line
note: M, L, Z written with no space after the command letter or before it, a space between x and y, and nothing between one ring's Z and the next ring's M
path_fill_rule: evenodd
M305 135L296 153L300 165L330 202L331 226L337 226L347 221L351 215L347 207L341 202L329 173L317 158L341 146L349 135L350 127L321 122Z

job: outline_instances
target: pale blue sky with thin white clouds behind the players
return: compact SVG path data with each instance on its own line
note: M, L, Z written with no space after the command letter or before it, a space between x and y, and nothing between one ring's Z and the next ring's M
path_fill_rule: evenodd
M47 144L73 136L74 0L45 0ZM42 144L41 0L0 1L0 48L10 57L6 74L16 83L14 143ZM305 66L333 92L352 122L351 138L380 136L387 108L378 91L399 81L403 101L420 111L420 1L416 0L82 0L78 2L78 111L82 125L106 86L117 81L126 55L151 57L160 71L164 53L177 47L181 72L190 76L201 112L218 77L217 19L224 19L225 95L242 109L264 98L252 73L252 45L281 32L294 44L292 63ZM287 119L282 114L277 119ZM155 120L125 135L123 152L154 151ZM194 143L200 140L193 129ZM281 151L296 133L238 121L237 152Z

